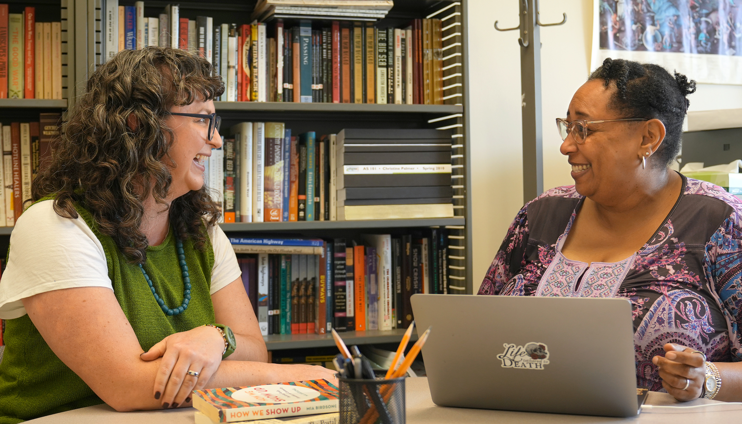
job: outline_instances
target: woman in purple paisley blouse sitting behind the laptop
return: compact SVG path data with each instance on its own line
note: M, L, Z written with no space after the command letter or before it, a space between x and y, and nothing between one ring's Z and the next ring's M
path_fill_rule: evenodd
M624 297L637 384L696 399L715 367L715 399L740 401L742 203L669 169L694 91L677 72L606 59L557 120L574 186L523 206L479 294Z

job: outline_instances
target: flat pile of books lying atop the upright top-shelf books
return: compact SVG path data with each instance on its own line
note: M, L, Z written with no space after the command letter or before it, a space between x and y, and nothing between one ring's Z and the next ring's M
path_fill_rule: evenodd
M251 18L257 22L276 18L376 21L393 6L393 0L260 0Z

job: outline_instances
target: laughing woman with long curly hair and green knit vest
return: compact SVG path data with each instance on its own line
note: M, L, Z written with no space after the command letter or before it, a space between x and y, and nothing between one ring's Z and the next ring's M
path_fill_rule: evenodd
M212 99L223 91L206 59L170 48L124 50L88 80L10 238L0 423L334 377L266 363L203 184L221 146Z

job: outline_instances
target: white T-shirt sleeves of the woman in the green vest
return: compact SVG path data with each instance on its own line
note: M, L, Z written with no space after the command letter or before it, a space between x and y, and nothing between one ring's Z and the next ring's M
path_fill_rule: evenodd
M10 235L10 256L0 279L0 319L26 314L21 299L70 287L108 287L105 252L82 217L62 218L53 200L30 206ZM237 257L220 226L209 229L214 247L211 295L240 276Z

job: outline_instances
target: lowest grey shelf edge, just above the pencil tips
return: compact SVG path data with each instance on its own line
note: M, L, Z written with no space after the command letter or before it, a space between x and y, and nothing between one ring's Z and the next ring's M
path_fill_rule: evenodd
M404 331L404 328L396 328L395 330L347 331L338 334L346 345L370 345L400 342ZM413 332L411 339L417 340L417 333ZM263 340L268 350L335 346L335 341L330 334L271 334L263 336Z

